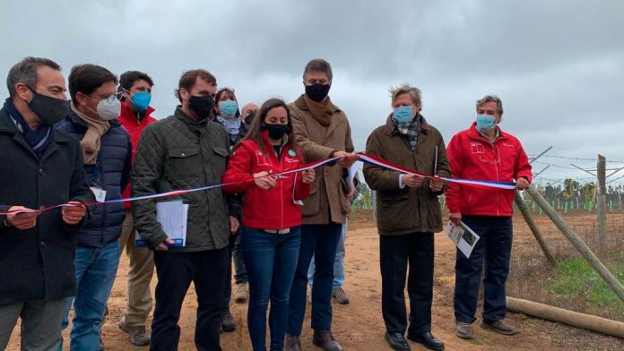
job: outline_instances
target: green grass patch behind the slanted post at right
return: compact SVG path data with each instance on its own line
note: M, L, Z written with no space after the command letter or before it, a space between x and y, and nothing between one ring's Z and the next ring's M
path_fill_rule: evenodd
M603 263L624 283L624 253L609 255ZM624 311L624 302L604 283L600 275L583 258L568 258L559 262L559 274L552 277L547 288L570 302L610 312ZM611 313L610 313L611 314Z

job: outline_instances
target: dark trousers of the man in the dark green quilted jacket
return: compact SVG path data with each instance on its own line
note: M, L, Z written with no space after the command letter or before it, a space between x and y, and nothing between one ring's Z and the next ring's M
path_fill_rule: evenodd
M202 351L221 350L219 332L228 249L196 253L155 251L154 264L158 285L150 349L178 349L180 309L192 281L197 295L195 347Z

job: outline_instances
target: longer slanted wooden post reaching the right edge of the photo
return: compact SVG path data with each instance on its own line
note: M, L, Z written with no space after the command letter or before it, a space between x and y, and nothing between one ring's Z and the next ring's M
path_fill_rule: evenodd
M604 267L598 257L596 257L592 250L585 244L585 242L583 242L583 239L576 235L574 230L568 227L566 221L559 216L557 211L550 207L548 201L546 201L546 199L544 199L542 195L538 193L537 190L535 190L533 185L526 189L526 191L529 192L531 196L533 196L533 199L535 199L537 204L540 205L540 207L544 210L550 220L552 220L555 226L559 228L561 233L568 238L569 242L574 245L576 250L581 253L583 258L585 258L585 260L589 262L594 270L598 272L598 274L602 277L602 280L604 280L607 286L611 287L611 290L613 290L615 294L618 295L618 297L620 297L622 301L624 301L624 286L622 286L620 280L615 278L613 274L611 274L611 271Z

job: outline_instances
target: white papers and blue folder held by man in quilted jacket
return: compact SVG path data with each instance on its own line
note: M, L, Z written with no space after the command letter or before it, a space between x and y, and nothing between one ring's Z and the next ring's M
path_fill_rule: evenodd
M164 201L156 203L156 219L162 227L162 231L173 240L169 247L182 247L186 245L186 223L188 219L188 205L181 200ZM136 233L134 246L144 247L145 242Z

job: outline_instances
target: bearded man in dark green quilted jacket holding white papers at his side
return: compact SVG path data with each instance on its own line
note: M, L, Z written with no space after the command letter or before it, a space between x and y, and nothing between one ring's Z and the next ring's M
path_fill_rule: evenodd
M181 105L143 131L134 159L133 196L166 193L221 182L229 156L228 134L208 118L217 81L204 70L182 74L177 97ZM182 200L188 205L186 245L173 241L156 216L157 201ZM136 201L134 223L145 244L154 250L158 275L152 321L152 350L176 350L178 319L193 281L197 294L195 346L221 349L221 305L228 265L228 239L238 230L238 203L221 188L159 200ZM230 218L228 218L230 214Z

